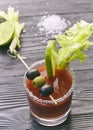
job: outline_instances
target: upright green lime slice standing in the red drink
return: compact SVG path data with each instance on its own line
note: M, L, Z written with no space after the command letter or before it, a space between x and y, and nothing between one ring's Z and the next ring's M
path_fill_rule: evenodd
M48 44L46 46L46 53L45 53L45 63L46 63L46 71L48 77L54 76L54 70L55 70L55 58L52 55L52 52L57 52L56 48L56 41L50 40L48 41Z

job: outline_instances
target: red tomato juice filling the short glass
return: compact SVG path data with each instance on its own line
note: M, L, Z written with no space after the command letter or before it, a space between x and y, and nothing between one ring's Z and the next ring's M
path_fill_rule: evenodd
M71 106L72 100L72 73L69 69L55 71L55 77L48 78L45 66L40 66L39 69L42 76L45 77L46 83L54 87L52 94L57 101L57 105L50 97L40 95L40 88L35 88L32 81L26 78L27 97L31 112L41 118L55 118L64 115ZM69 93L68 95L66 95Z

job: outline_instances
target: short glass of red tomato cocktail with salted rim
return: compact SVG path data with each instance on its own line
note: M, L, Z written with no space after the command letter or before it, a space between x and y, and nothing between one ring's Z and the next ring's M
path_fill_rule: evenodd
M49 96L40 95L40 88L35 88L32 80L25 78L28 102L34 119L48 126L58 125L64 122L71 109L72 100L72 71L68 68L55 70L55 77L47 77L44 60L36 62L31 69L38 69L40 75L45 77L46 84L53 86L54 92L51 94L56 100L55 104Z

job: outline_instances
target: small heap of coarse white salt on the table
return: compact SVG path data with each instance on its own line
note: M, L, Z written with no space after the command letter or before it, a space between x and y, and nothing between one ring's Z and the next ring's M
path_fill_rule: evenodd
M43 16L37 24L37 27L42 34L45 32L46 35L55 35L63 33L70 25L70 21L54 14Z

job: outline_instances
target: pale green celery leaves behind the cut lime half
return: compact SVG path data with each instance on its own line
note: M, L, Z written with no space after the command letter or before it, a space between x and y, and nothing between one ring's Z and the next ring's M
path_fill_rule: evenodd
M13 7L9 7L7 13L5 13L4 11L0 11L0 18L3 18L5 21L12 23L14 26L14 32L12 35L12 39L10 41L7 41L2 44L2 45L6 45L6 43L7 44L11 43L10 47L9 47L9 51L11 53L13 53L14 50L16 49L16 47L18 47L18 48L21 47L19 38L20 38L20 34L24 28L24 23L19 23L19 12L14 11ZM12 28L12 26L10 28ZM7 30L7 26L5 26L5 30ZM8 33L10 33L10 32L8 32ZM2 35L4 35L4 34L2 34Z

